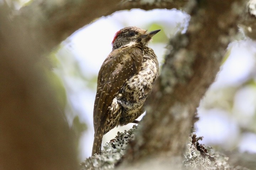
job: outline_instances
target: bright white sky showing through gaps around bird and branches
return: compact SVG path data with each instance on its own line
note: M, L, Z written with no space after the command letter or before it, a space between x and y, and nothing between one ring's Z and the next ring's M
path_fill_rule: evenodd
M68 40L63 42L66 48L64 53L71 51L75 60L78 62L82 74L90 77L91 75L98 74L102 62L112 50L111 42L114 34L119 29L127 26L137 26L147 29L152 23L157 23L164 27L161 31L165 32L167 36L172 36L177 32L177 27L186 27L186 21L188 21L188 16L177 10L153 10L148 12L131 10L116 12L112 16L98 19L96 22L71 35ZM164 56L166 43L167 42L149 44L158 56L159 62L162 61L162 57ZM239 41L233 42L230 46L233 46L231 55L222 66L221 72L218 74L216 82L210 87L210 90L241 85L247 80L246 77L252 74L252 70L256 70L255 42L251 40ZM63 72L74 64L62 61L62 54L64 53L63 50L58 52L60 62L63 64ZM79 114L81 120L85 121L88 125L87 131L81 138L82 160L91 155L94 136L92 114L96 94L96 82L94 90L86 89L84 86L86 82L75 80L72 75L68 74L69 73L66 73L63 80L65 87L68 89L67 94L69 101L71 106L77 111L77 114ZM236 103L236 109L230 112L236 114L238 118L231 118L230 113L224 109L205 109L200 107L198 109L200 120L196 123L196 129L198 136L204 136L202 142L209 145L219 144L230 149L235 146L238 141L241 143L239 144L241 151L247 151L248 148L251 148L250 152L256 152L255 134L244 134L244 136L240 137L241 139L238 140L240 133L238 125L248 123L255 115L255 94L255 87L241 89L236 94L234 101L234 103ZM213 100L219 100L219 96L213 96ZM202 101L201 105L204 106L204 103L207 103L207 101ZM128 125L126 129L129 129L132 125L133 124ZM117 131L123 131L123 128L121 129L120 127L116 129ZM110 132L110 136L106 138L107 135L105 135L103 139L103 144L114 138L116 131Z

